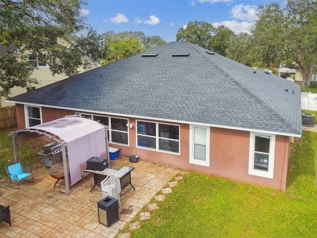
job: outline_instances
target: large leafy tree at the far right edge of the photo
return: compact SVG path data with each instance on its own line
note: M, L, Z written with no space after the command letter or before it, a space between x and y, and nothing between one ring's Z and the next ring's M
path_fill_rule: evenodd
M317 64L317 1L288 0L284 9L271 3L259 7L258 17L251 30L255 55L266 63L295 61L308 88Z

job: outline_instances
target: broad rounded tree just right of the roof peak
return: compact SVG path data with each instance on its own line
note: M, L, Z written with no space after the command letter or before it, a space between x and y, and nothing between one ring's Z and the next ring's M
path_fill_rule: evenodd
M186 27L178 29L176 41L187 41L205 49L212 50L214 27L205 21L190 21Z

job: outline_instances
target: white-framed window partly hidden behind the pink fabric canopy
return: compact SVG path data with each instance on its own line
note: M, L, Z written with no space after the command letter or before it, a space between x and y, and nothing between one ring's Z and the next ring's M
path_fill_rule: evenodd
M128 119L111 118L92 114L76 114L79 114L83 118L96 120L104 125L107 125L107 136L110 143L118 143L124 145L129 144L128 127L126 126L128 123Z

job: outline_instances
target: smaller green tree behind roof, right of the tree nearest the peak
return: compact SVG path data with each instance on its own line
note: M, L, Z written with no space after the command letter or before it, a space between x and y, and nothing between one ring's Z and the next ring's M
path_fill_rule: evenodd
M211 47L213 51L221 56L226 56L226 49L234 35L234 32L229 28L222 25L218 26L214 30L214 35L211 38Z

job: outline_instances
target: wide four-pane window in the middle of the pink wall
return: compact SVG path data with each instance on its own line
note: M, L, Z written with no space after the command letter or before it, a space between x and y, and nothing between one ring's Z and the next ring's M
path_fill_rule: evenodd
M137 121L138 147L179 153L179 125Z

